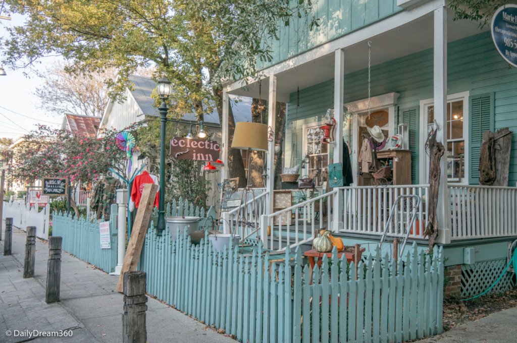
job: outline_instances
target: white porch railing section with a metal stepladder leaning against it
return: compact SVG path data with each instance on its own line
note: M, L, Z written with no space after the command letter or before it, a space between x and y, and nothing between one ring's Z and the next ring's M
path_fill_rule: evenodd
M413 227L409 230L409 238L423 238L428 214L425 195L429 192L429 185L357 186L340 188L339 191L343 192L344 204L340 218L343 228L340 231L379 236L383 234L390 208L397 197L399 195L418 195L421 201ZM405 224L409 219L412 205L409 201L414 200L405 198L398 206L388 228L388 236L405 236L407 230Z

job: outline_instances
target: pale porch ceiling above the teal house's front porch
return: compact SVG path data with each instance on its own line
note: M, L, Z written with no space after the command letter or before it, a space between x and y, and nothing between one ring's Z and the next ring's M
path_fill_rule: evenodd
M466 20L453 21L454 15L450 10L448 10L447 17L447 40L449 42L482 32L475 22ZM433 13L431 12L414 21L402 24L368 39L372 42L372 66L433 48L433 25ZM364 28L364 30L368 29L369 27ZM345 73L368 67L368 40L362 40L343 47L345 52ZM327 44L314 49L326 49L325 45ZM334 51L327 50L328 52L325 52L320 58L308 60L306 63L298 66L286 67L284 70L276 73L278 101L288 102L289 95L295 92L297 87L304 89L334 78ZM288 65L290 60L286 62ZM257 81L249 84L247 87L231 91L231 93L258 98L258 88ZM266 78L262 82L263 99L267 99L268 88L269 85Z

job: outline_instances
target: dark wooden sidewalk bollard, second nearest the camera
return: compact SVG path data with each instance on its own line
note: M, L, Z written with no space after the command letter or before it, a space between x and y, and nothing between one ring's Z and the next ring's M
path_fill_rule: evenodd
M49 261L47 262L47 291L45 302L47 304L59 301L59 289L61 284L61 244L63 238L56 236L49 238Z

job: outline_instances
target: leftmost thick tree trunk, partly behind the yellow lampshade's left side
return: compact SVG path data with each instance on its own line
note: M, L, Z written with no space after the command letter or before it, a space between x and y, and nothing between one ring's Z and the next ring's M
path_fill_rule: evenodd
M219 114L219 122L223 122L223 90L222 88L214 88L214 98L216 100L217 112ZM221 128L222 130L228 130L228 161L223 161L229 170L231 178L239 178L239 188L246 187L246 171L244 170L244 164L242 163L242 155L240 150L232 149L233 134L235 132L235 120L233 118L232 106L228 106L228 128Z

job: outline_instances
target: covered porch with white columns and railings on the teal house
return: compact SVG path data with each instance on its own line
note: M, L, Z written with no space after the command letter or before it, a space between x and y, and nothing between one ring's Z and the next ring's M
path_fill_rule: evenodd
M315 100L311 110L317 113L314 123L323 122L329 108L333 108L334 119L336 119L335 139L327 147L327 162L343 163L341 142L344 139L350 149L354 183L347 187L331 188L329 191L322 187L312 196L302 198L292 206L276 210L275 191L279 190L275 190L274 180L271 177L273 173L269 167L273 165L275 146L274 143L269 143L266 190L256 199L261 204L258 207L260 210L250 212L252 204L250 200L230 212L223 213L223 218L227 220L225 229L231 228L234 231L243 232L244 238L252 237L254 230L237 222L238 216L242 217L246 213L259 224L258 238L270 250L284 250L286 247L310 244L316 231L321 227L327 227L338 236L342 233L345 237L358 237L377 242L386 232L389 237L401 239L407 237L409 240L425 245L427 239L424 238L424 230L429 214L429 184L427 184L428 175L424 170L427 167L425 153L418 154L418 151L423 152L428 122L418 120L424 111L422 99L431 98L427 100L433 104L434 124L437 128L442 128L437 131L437 141L447 141L448 137L443 128L447 128L451 121L447 110L450 105L451 88L456 87L455 84L452 85L454 87L448 84L448 43L480 33L476 23L453 21L452 14L443 4L437 6L436 3L427 2L410 11L395 13L382 21L264 69L260 81L241 80L227 85L224 91L223 127L227 127L227 104L230 94L258 97L259 84L261 84L262 93L268 94L268 126L272 131L276 131L279 129L275 125L276 102L288 103L287 117L292 122L297 115L308 117L306 114L297 112L298 89L300 93L304 91L308 93L309 90L314 93ZM370 58L369 42L372 45ZM414 55L424 60L425 70L415 68L413 73L422 72L425 77L422 77L418 84L409 80L404 88L404 96L399 98L398 92L401 86L390 87L390 83L395 81L393 73L397 74L397 71L391 71L390 79L388 72L376 66L392 60L402 60L392 68L403 68L404 57ZM377 82L371 89L365 86L364 80L361 80L361 83L358 82L360 75L364 77L366 70L369 69L369 59L371 77ZM361 86L359 87L358 84ZM408 95L412 86L424 88L431 97L418 98ZM469 99L468 91L465 97ZM311 99L306 97L303 100L311 102ZM307 108L310 107L309 105ZM386 108L389 115L386 125L387 135L397 133L399 124L412 126L407 138L412 149L410 170L412 181L393 185L364 185L358 178L360 166L357 137L360 133L361 113L369 113L379 108ZM464 111L468 111L468 107L464 108ZM346 117L347 113L348 118L351 119L349 121ZM416 123L415 118L417 118ZM464 125L468 130L467 120ZM291 154L295 152L289 151L293 145L293 138L287 135L285 138L284 166L287 167ZM462 158L464 175L460 176L460 182L451 180L451 168L448 165L451 159L447 157L456 152L448 149L451 147L455 149L454 145L444 144L445 152L440 161L441 175L437 202L437 243L439 244L447 245L486 238L509 239L517 236L515 225L517 189L510 186L468 184L469 171L473 169L477 163L476 159L479 158L479 154L469 153L466 148L468 139L468 137L464 139L465 150ZM470 148L473 147L472 143L470 142ZM227 149L231 146L224 131L223 145L224 158ZM302 153L297 155L297 159L301 156L303 156ZM223 169L221 177L228 178L228 171ZM293 194L295 192L293 191ZM396 203L397 199L400 200ZM391 219L390 212L392 212Z

